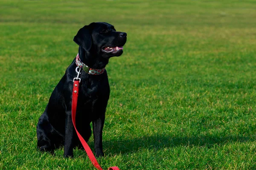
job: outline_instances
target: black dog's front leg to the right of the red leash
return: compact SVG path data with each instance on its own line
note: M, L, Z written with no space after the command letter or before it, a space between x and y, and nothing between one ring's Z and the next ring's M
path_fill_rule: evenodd
M102 150L102 130L104 126L105 115L93 120L94 150L97 157L104 156Z

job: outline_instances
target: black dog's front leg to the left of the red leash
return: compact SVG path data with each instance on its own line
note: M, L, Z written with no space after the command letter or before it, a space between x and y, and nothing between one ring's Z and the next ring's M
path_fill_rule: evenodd
M72 112L66 111L64 157L73 157L73 136L75 128L72 122Z

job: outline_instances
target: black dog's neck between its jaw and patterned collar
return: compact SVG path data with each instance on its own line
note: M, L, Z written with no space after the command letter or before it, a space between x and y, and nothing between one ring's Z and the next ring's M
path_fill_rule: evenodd
M90 68L102 69L108 64L108 58L103 58L98 56L99 54L93 54L90 51L85 51L83 48L79 47L79 57L81 62L86 64Z

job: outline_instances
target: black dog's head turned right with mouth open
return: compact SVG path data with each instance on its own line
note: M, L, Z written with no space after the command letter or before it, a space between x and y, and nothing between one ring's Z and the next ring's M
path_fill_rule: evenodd
M118 32L108 23L91 23L81 28L74 41L85 51L96 53L104 58L120 56L127 34Z

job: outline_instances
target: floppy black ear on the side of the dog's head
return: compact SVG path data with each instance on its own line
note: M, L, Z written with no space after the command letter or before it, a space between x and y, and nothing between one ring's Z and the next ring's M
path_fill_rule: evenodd
M73 39L73 41L75 41L86 51L89 51L92 46L92 25L93 23L91 23L89 26L84 26L83 28L79 29Z

